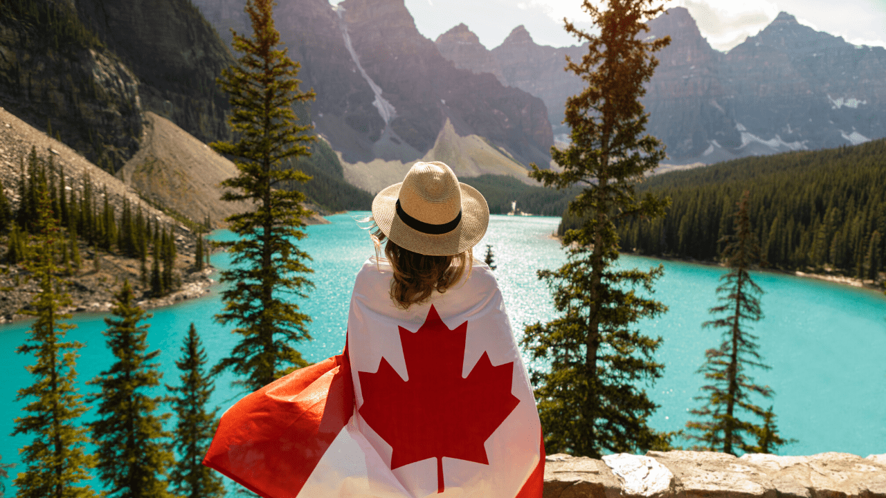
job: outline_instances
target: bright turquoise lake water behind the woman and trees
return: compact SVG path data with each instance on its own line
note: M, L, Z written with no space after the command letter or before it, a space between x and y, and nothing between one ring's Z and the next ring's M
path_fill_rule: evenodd
M363 261L373 254L369 237L353 220L355 214L330 216L331 224L308 227L300 244L314 261L311 279L315 289L301 303L313 317L309 330L314 340L297 348L311 362L338 354L344 346L347 307L354 277ZM551 237L559 218L492 216L486 237L477 247L478 257L493 245L501 284L514 332L525 323L547 321L555 316L550 293L540 282L538 268L556 268L565 256ZM227 264L225 254L215 254L214 264ZM648 268L660 261L624 256L628 267ZM677 430L688 419L688 409L698 406L693 398L703 384L696 370L704 350L719 345L719 332L703 330L707 309L716 303L716 288L723 268L664 261L664 277L656 284L655 297L670 309L640 328L662 336L657 361L664 362L664 377L649 387L651 398L661 405L651 424L659 430ZM781 435L799 440L781 450L784 455L812 455L839 451L866 456L886 453L886 297L879 292L856 289L820 280L774 273L754 273L766 291L762 298L766 318L755 333L760 351L772 370L752 372L758 383L773 387L772 401ZM207 297L153 310L148 340L160 349L158 362L166 372L164 382L178 384L175 359L193 322L203 338L209 361L214 363L237 342L237 337L214 323L221 309L217 289ZM107 369L113 356L105 348L103 315L77 315L77 328L68 337L87 343L81 350L77 370L82 382ZM0 455L3 463L19 463L18 448L28 439L10 437L13 419L23 402L14 401L16 390L31 384L25 365L33 359L15 354L24 342L27 323L0 326ZM240 396L231 391L233 377L216 381L212 403L228 408ZM158 391L160 393L160 391ZM87 413L87 419L91 414ZM6 481L13 494L12 469Z

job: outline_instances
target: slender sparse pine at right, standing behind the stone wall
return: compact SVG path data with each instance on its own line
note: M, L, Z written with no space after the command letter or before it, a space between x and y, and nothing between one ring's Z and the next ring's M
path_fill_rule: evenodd
M705 352L705 363L698 371L704 374L708 384L702 386L703 395L696 397L705 401L701 409L689 411L698 419L690 420L686 426L695 434L691 440L702 443L697 448L708 451L722 451L735 455L736 452L757 451L758 439L766 441L766 449L774 450L786 444L781 440L774 426L774 416L766 415L766 410L751 400L752 395L763 398L773 396L768 385L754 384L747 374L750 367L769 369L762 363L758 353L758 337L748 331L749 322L763 318L759 296L763 289L751 278L748 270L762 261L762 251L753 230L750 228L748 209L749 191L744 191L734 214L735 233L727 236L722 258L730 270L720 277L723 284L717 288L719 306L711 307L711 315L723 315L703 323L703 327L723 329L723 342L719 347ZM747 416L760 417L764 426L754 424ZM766 436L762 434L766 433Z

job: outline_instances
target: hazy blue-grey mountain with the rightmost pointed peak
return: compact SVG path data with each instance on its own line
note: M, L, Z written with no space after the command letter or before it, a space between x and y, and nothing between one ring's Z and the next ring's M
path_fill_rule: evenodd
M729 51L721 67L734 94L725 109L734 109L741 147L820 149L886 136L882 47L847 43L781 12Z

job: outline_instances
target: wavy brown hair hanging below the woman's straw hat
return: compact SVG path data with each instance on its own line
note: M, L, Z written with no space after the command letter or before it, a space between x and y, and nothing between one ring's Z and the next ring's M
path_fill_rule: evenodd
M391 239L385 244L385 256L393 268L391 299L403 309L427 300L431 292L447 292L474 262L470 250L452 256L426 256Z

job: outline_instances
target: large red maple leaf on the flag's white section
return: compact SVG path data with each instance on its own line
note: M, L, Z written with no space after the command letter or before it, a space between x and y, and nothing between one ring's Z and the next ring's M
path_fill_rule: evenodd
M520 402L510 393L514 362L494 367L486 352L462 378L468 323L450 331L431 305L416 332L400 329L409 380L382 358L378 370L357 372L363 420L391 445L391 470L437 458L443 493L443 457L489 464L483 446Z

